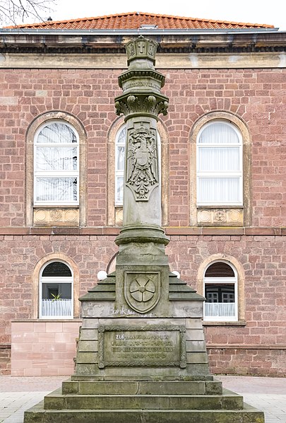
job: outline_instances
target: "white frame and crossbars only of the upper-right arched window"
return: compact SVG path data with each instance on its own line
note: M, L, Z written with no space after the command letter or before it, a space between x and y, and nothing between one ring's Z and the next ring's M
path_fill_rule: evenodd
M230 126L236 133L237 137L239 139L239 143L201 143L200 144L200 138L202 132L205 130L206 127L216 124L216 123L223 123ZM201 149L208 149L208 148L239 148L239 171L230 171L230 170L218 170L218 171L200 171L199 170L199 160L200 160L200 151ZM197 187L197 206L243 206L243 139L242 139L242 133L239 131L239 129L232 124L231 122L228 122L227 120L211 120L210 122L203 125L203 127L198 132L198 137L196 139L196 187ZM199 190L199 181L202 178L239 178L239 200L237 202L215 202L215 201L199 201L198 200L198 190Z

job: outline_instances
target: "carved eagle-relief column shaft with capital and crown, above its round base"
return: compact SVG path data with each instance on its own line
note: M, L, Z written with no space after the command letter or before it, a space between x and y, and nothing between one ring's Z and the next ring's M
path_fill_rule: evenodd
M167 115L168 98L160 93L165 76L155 71L157 42L138 37L126 45L129 68L119 76L123 94L115 99L117 115L127 125L124 180L124 230L161 226L160 163L157 117Z

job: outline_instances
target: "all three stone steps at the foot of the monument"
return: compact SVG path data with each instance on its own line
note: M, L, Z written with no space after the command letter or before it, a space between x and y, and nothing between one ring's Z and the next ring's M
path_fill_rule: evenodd
M25 412L25 423L263 423L220 381L69 380Z

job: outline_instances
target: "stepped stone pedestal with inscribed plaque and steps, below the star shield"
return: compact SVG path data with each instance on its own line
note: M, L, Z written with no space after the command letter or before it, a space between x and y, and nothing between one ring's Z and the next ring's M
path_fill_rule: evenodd
M263 423L209 373L202 297L173 274L168 291L168 318L116 305L114 275L88 292L76 371L25 423Z

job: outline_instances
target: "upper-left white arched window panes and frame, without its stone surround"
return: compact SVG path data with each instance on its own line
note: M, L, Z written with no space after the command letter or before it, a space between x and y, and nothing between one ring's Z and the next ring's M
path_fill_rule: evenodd
M35 134L34 204L78 204L79 139L68 122L52 120Z

